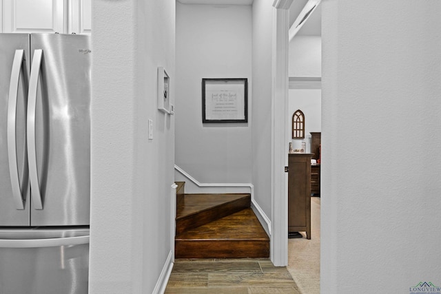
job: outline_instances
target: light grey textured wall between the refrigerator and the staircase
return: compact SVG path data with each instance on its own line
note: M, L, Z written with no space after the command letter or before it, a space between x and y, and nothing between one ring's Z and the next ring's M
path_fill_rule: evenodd
M90 293L152 293L171 256L174 117L156 109L156 70L173 93L174 6L92 2Z

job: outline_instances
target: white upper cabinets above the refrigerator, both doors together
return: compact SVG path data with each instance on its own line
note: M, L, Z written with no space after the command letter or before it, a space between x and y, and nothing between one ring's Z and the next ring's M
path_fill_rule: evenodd
M90 34L91 0L1 0L0 32Z

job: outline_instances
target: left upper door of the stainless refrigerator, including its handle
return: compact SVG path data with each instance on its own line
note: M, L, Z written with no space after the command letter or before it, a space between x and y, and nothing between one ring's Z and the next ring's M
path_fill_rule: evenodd
M29 34L0 34L0 226L29 226Z

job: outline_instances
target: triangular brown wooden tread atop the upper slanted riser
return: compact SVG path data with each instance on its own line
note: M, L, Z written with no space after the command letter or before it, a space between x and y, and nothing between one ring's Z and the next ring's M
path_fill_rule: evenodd
M176 207L176 220L242 198L251 198L251 196L247 193L185 194Z

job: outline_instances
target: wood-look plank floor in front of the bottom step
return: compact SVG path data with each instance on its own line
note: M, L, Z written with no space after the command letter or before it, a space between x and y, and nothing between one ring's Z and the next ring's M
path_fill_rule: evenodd
M269 259L176 260L165 293L300 294L286 267Z

